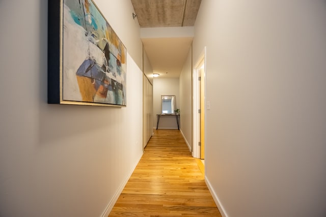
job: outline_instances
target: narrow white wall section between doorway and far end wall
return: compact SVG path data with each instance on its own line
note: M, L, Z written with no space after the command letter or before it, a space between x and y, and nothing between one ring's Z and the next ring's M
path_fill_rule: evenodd
M192 150L192 49L184 62L180 74L180 131Z

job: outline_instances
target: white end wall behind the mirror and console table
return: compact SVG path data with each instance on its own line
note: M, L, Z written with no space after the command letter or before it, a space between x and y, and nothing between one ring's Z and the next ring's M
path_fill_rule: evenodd
M161 95L175 95L177 108L180 107L179 78L154 78L153 79L153 128L156 129L157 116L161 113ZM182 121L182 119L181 119ZM175 116L166 116L159 119L158 129L178 129Z

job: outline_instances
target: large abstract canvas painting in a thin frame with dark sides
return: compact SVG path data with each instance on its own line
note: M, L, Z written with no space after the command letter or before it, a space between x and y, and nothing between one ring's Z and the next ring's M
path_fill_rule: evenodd
M126 55L92 0L48 1L48 103L126 106Z

